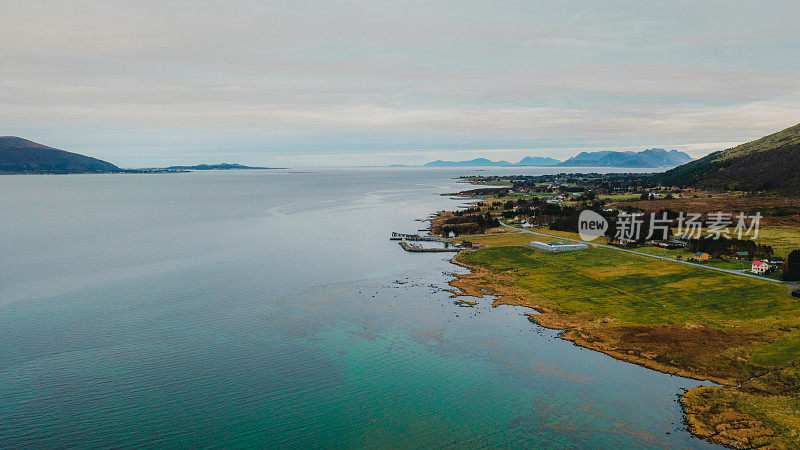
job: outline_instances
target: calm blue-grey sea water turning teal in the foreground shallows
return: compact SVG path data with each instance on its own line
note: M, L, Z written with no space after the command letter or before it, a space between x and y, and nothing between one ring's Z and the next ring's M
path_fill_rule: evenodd
M468 172L0 177L0 447L705 446L697 382L387 239Z

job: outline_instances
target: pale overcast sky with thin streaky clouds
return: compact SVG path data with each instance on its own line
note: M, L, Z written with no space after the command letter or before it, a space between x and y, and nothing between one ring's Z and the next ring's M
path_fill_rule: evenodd
M659 147L800 122L800 1L0 0L0 135L121 167Z

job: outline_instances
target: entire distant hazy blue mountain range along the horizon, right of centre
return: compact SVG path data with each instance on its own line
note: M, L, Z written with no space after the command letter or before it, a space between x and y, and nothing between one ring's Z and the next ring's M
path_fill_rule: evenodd
M492 161L486 158L476 158L468 161L442 161L437 160L425 164L429 167L461 167L461 166L558 166L558 167L675 167L691 161L692 158L684 152L677 150L664 150L651 148L641 152L581 152L566 161L541 156L526 156L517 163L508 161Z

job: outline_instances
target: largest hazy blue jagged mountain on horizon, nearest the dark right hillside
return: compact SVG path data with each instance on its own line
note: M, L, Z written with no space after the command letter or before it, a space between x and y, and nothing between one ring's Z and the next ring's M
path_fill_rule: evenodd
M559 164L562 167L674 167L692 158L677 150L651 148L641 152L581 152Z

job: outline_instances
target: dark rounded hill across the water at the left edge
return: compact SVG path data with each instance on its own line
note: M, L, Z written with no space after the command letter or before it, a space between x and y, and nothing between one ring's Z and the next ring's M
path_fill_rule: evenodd
M0 173L120 172L111 163L15 136L0 136Z

